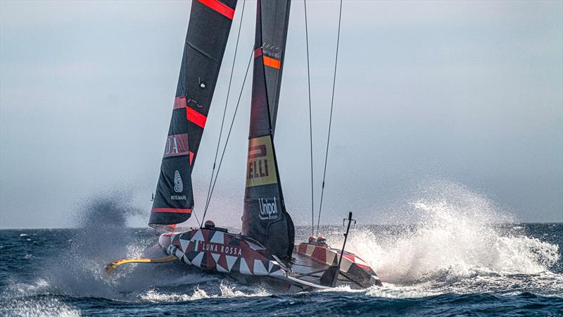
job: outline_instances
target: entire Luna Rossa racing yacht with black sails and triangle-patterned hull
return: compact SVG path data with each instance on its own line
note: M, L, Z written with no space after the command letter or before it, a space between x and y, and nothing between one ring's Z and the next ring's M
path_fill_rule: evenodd
M295 230L281 190L273 141L290 0L256 2L241 232L228 232L210 220L201 228L174 231L178 223L190 218L194 208L191 170L208 123L236 2L194 0L191 4L172 119L148 221L152 228L165 232L160 235L158 245L167 256L114 261L106 266L106 271L110 273L123 263L181 261L210 273L265 279L288 290L315 290L343 284L381 285L372 268L355 254L319 244L314 239L295 244ZM350 213L348 229L351 220Z

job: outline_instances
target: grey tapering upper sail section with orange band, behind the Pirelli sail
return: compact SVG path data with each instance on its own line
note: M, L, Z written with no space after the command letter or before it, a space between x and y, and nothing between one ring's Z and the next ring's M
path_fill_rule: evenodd
M291 1L260 1L260 20L262 28L262 54L268 104L270 106L270 123L272 134L276 130L279 88L281 71L284 66L287 30L289 25L289 7Z

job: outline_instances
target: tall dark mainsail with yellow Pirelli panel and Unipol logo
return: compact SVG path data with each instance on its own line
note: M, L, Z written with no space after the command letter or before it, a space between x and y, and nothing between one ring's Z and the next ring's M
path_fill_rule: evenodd
M242 234L253 237L271 254L289 262L295 230L285 208L272 142L289 22L289 1L258 0L256 10Z

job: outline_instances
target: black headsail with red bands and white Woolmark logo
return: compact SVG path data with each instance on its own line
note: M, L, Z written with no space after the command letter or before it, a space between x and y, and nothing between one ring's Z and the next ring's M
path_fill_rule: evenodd
M191 216L194 166L209 113L236 0L194 0L148 225L174 228Z

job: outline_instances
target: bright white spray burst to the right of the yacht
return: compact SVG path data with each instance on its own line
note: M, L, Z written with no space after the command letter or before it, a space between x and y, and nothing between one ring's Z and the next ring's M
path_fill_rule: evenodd
M521 280L523 287L541 289L550 280L563 287L563 275L549 271L560 258L557 245L507 225L514 218L467 187L434 182L424 192L426 197L410 204L414 225L351 236L350 251L363 256L381 280L430 289L462 285L462 292L479 292L477 285L487 281L494 287Z

